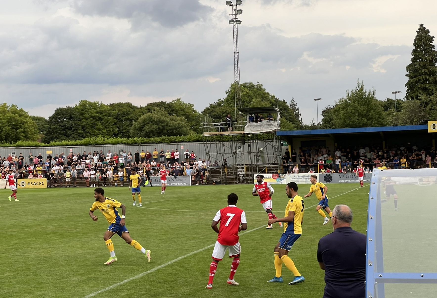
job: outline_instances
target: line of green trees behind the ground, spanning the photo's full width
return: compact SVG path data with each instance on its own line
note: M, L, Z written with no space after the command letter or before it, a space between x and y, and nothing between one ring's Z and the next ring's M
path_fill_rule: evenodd
M366 89L358 80L354 89L322 111L320 128L377 127L424 124L437 120L437 51L434 36L420 24L413 43L411 63L406 66L406 96L378 100L375 89ZM75 106L59 107L46 119L30 116L16 105L0 104L0 143L40 140L43 143L85 138L153 138L194 136L202 132L203 120L221 122L235 115L234 85L225 97L202 112L180 98L146 106L132 103L104 104L80 100ZM243 107L275 106L281 110L281 130L315 129L303 124L295 99L279 99L259 82L241 84ZM243 115L237 114L242 120ZM196 139L196 137L194 137Z

